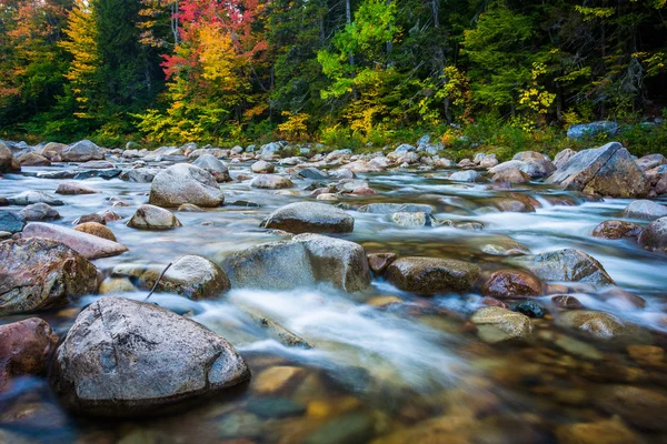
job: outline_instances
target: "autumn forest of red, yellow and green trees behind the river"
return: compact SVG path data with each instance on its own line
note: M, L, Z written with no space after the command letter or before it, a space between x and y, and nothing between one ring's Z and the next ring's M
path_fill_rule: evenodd
M666 0L0 0L0 138L550 145L613 120L626 145L661 152L666 13Z

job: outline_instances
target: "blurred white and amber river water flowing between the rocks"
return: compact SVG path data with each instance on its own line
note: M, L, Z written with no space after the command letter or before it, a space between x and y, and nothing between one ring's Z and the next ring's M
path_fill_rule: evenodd
M62 167L60 167L61 169ZM26 168L24 172L59 168ZM249 164L236 164L248 173ZM507 259L485 253L486 245L516 241L532 253L566 248L596 258L618 286L647 301L636 309L575 294L587 307L616 314L650 332L654 345L667 345L667 256L649 253L633 240L607 241L590 235L604 220L618 219L628 200L591 201L573 192L531 184L515 186L537 200L535 213L494 212L495 199L507 190L488 184L449 182L438 173L388 171L360 174L378 192L347 196L355 231L340 238L360 243L367 253L451 258L476 263L482 274L507 268ZM52 193L58 180L6 175L0 196L26 190ZM110 222L129 252L93 261L103 273L121 263L166 265L183 254L221 262L230 252L282 239L259 229L261 220L283 204L312 200L297 181L288 192L253 190L246 183L223 184L227 202L259 203L259 208L226 205L201 213L179 212L183 226L171 231L139 231ZM150 184L119 179L90 179L99 194L59 196L56 209L71 225L77 218L110 209L109 198L127 201L112 211L129 218L147 202ZM362 203L428 203L436 219L484 224L482 230L449 226L400 228L387 215L355 211ZM10 206L10 210L20 210ZM646 223L644 221L643 223ZM145 292L119 294L143 299ZM78 306L39 313L63 337ZM534 320L530 344L481 342L467 319L482 306L479 294L420 297L374 279L364 292L342 293L328 285L289 291L233 289L219 300L193 302L172 294L151 300L191 316L230 341L247 360L252 380L243 387L188 406L183 412L140 421L74 417L63 411L46 379L18 381L0 394L0 442L40 443L551 443L568 442L564 427L600 423L633 440L667 442L667 433L637 426L637 416L655 415L633 405L621 416L603 400L605 390L631 384L650 391L667 389L665 359L634 359L620 344L600 343L555 326L550 296L539 302L550 310ZM389 304L388 302L394 302ZM257 326L248 311L279 322L315 346L288 347ZM23 316L0 317L0 323ZM667 412L663 412L665 414ZM619 425L620 424L620 425ZM665 430L665 428L663 428ZM590 432L603 433L599 430ZM618 435L624 442L625 435ZM595 441L590 441L595 442Z

